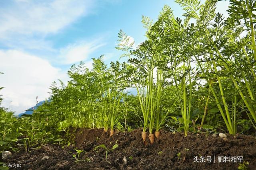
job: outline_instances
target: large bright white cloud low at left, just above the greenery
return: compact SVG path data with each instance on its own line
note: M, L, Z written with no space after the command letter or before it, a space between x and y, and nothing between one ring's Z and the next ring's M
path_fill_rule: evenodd
M3 107L20 113L48 98L50 84L58 78L68 80L66 72L52 66L48 61L27 53L0 50L0 86L4 98Z

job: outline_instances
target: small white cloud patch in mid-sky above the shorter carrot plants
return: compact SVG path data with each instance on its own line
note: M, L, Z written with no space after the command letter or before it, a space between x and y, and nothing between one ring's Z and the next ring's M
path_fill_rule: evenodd
M100 43L99 39L90 43L86 42L68 45L60 50L60 58L63 59L64 64L74 64L80 61L86 61L89 59L88 56L90 53L104 45L104 43Z

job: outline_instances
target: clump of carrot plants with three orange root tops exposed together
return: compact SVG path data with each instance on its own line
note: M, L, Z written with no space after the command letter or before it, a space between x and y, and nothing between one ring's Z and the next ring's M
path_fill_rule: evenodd
M135 50L132 46L128 45L129 37L121 30L118 34L119 50L126 51L129 64L124 63L122 69L126 70L128 81L131 86L135 86L140 101L140 107L143 114L143 132L142 138L146 140L146 129L149 128L150 142L154 142L153 129L156 122L157 131L160 129L160 104L162 89L164 83L164 74L158 68L158 63L162 57L161 40L156 36L157 32L153 29L155 26L151 25L147 17L142 17L142 23L147 28L147 39L138 45ZM114 66L113 67L117 67Z

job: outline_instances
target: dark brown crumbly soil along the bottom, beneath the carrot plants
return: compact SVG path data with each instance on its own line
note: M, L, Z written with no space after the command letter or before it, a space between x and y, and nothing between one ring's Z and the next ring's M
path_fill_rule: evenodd
M256 170L256 138L252 136L227 135L223 140L211 133L189 133L185 137L183 133L162 130L160 137L155 138L151 145L148 138L143 143L141 133L142 129L135 129L132 132L115 132L110 137L110 132L103 129L76 129L73 146L44 145L31 152L15 153L5 162L21 164L20 169L26 170L235 170L243 164L239 165L241 157L238 156L243 156L243 160L249 162L246 167ZM118 147L109 150L106 159L105 149L94 150L102 144L108 149L115 144ZM80 154L81 161L76 162L72 157L77 154L75 149L85 151ZM44 156L49 156L49 159L42 160ZM226 162L223 162L224 156ZM222 162L218 162L218 158ZM237 160L228 162L228 158L229 161L231 158Z

